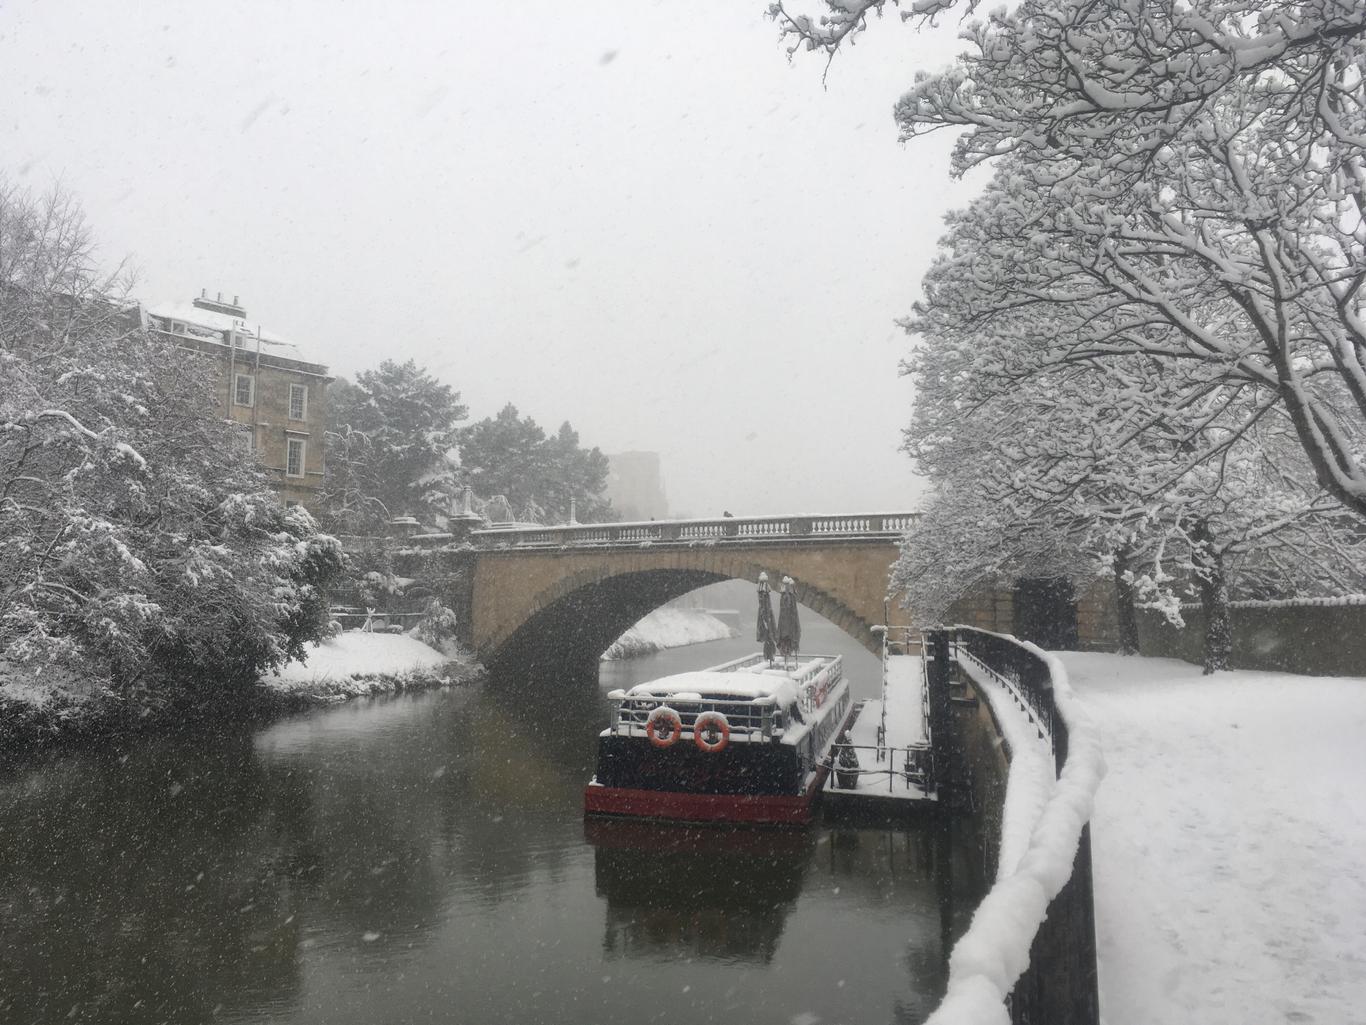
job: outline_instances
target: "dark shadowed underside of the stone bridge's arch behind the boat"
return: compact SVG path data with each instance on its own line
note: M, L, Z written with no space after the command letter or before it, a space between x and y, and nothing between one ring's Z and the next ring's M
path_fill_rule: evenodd
M757 573L755 573L757 575ZM740 637L753 641L757 593L753 581L705 570L645 570L582 584L546 601L486 656L493 679L596 683L601 655L654 610L706 585L729 581L727 604L739 610ZM773 607L777 610L777 593ZM870 623L816 588L798 584L803 623L825 619L858 646L877 653L880 637ZM754 645L757 649L757 645ZM803 644L805 651L811 651Z

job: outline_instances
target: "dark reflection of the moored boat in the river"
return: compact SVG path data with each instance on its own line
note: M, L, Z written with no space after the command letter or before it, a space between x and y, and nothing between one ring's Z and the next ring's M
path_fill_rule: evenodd
M605 957L766 965L816 850L807 831L587 819Z

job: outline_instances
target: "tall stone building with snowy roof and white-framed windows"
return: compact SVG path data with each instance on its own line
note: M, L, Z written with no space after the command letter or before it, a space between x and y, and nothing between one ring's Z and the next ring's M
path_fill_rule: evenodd
M142 308L142 325L219 364L224 417L240 425L242 443L269 470L280 500L316 511L322 487L322 435L328 422L328 368L296 344L262 331L232 297L201 292L187 303Z

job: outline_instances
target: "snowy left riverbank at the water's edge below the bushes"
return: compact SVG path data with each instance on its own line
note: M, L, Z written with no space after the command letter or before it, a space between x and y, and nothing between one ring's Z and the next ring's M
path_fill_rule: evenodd
M214 720L264 720L352 697L470 683L482 675L484 667L460 649L440 652L413 637L374 633L309 645L305 661L288 663L254 687L198 700L123 697L59 668L38 678L20 675L0 659L0 757Z

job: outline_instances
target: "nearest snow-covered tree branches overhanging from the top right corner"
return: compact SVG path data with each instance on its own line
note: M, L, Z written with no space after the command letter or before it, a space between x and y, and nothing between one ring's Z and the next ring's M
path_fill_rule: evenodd
M884 4L829 8L773 12L833 53ZM981 261L974 298L1070 299L1075 329L1049 358L1143 353L1258 388L1321 485L1366 515L1366 10L1029 0L963 38L970 51L918 75L896 118L906 138L963 130L960 172L1011 157L999 191L1018 200L1018 234L959 250Z

